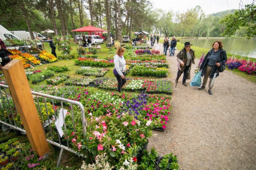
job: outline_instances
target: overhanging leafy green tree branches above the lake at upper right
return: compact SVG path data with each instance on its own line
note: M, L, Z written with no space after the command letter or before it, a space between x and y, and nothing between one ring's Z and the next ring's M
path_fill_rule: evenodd
M237 29L245 26L246 36L254 37L256 36L256 5L254 3L245 5L245 8L235 11L235 14L227 16L220 22L226 24L224 35L232 36Z

